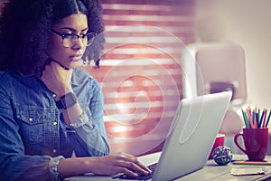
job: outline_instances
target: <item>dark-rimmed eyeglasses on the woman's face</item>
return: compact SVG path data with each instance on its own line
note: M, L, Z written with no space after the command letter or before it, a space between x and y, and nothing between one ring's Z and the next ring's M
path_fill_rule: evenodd
M89 46L91 43L93 43L94 37L97 35L97 33L84 33L84 34L59 33L52 29L51 32L60 35L63 40L63 46L67 48L76 44L79 38L85 46Z

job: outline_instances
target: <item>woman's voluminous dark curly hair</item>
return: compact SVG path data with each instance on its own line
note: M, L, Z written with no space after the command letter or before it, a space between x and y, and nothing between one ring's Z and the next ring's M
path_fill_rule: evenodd
M10 0L0 17L0 70L41 73L50 62L51 25L78 12L87 15L89 32L98 34L84 62L93 60L99 66L105 42L99 0Z

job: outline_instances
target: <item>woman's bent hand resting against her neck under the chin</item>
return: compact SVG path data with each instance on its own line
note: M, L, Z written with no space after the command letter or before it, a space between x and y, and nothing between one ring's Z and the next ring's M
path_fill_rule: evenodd
M66 70L58 62L51 61L42 71L42 81L57 97L61 97L72 91L70 87L71 75L72 69Z

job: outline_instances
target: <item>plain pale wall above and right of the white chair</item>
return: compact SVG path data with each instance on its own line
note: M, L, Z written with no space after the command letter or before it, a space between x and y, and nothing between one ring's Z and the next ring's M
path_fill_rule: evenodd
M245 49L248 103L271 109L271 1L196 0L197 22L205 17L201 33Z

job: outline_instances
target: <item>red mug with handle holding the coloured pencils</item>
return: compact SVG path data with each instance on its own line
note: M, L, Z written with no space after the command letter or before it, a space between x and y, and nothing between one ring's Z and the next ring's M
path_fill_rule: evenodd
M245 148L238 143L238 137L243 137ZM268 148L268 128L243 129L234 137L234 142L238 148L247 154L249 160L263 161Z

